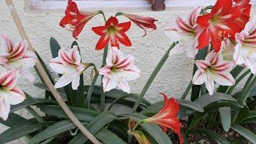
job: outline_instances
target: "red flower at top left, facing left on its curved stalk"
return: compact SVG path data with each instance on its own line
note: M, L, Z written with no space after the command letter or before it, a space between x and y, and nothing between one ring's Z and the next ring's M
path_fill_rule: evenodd
M78 35L82 32L86 23L90 21L95 15L99 14L96 12L85 12L78 10L78 6L72 0L69 0L68 6L66 6L65 17L62 18L59 25L66 27L67 30L73 31L73 37L78 38Z

